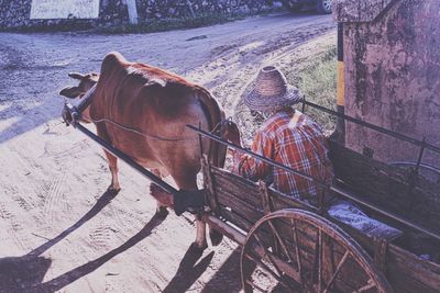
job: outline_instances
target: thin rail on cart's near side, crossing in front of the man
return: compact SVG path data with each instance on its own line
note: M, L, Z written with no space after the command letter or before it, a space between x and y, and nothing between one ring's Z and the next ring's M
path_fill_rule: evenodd
M330 187L329 184L326 184L326 183L321 182L319 179L317 179L317 178L315 178L315 177L311 177L311 176L309 176L309 174L306 174L306 173L304 173L304 172L300 172L300 171L297 171L297 170L295 170L295 169L292 169L292 168L289 168L289 167L287 167L287 166L280 165L280 164L278 164L278 162L276 162L276 161L273 161L273 160L271 160L271 159L267 159L266 157L263 157L263 156L261 156L261 155L258 155L258 154L255 154L255 153L253 153L253 151L251 151L251 150L249 150L249 149L245 149L245 148L243 148L243 147L241 147L241 146L237 146L237 145L234 145L234 144L231 144L231 143L224 140L224 139L221 139L220 137L218 137L218 136L216 136L216 135L212 135L212 134L209 133L209 132L199 129L199 128L197 128L197 127L195 127L195 126L193 126L193 125L190 125L190 124L187 124L186 127L188 127L188 128L190 128L190 129L193 129L193 131L195 131L195 132L201 134L202 136L207 136L207 137L211 138L212 140L216 140L216 142L218 142L218 143L221 143L221 144L223 144L223 145L227 145L227 146L229 146L230 148L241 150L241 151L243 151L243 153L245 153L245 154L249 154L249 155L251 155L251 156L253 156L253 157L255 157L255 158L258 158L258 159L261 159L262 161L264 161L264 162L266 162L266 164L268 164L268 165L271 165L271 166L273 166L273 167L283 169L283 170L285 170L285 171L288 171L288 172L292 172L292 173L294 173L294 174L300 176L300 177L302 177L302 178L305 178L305 179L307 179L307 180L314 181L315 183L318 183L318 185L320 185L320 187L322 187L322 188L329 188L329 187Z

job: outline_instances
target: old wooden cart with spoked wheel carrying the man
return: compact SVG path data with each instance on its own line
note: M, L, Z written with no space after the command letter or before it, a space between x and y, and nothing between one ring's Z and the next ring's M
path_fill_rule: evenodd
M418 143L422 153L427 146ZM439 259L435 262L440 256L440 184L418 174L420 160L414 168L402 168L333 140L330 149L336 180L328 195L356 203L402 234L365 234L331 217L324 199L312 203L286 196L262 181L210 166L205 158L209 209L202 217L242 246L244 291L440 292Z

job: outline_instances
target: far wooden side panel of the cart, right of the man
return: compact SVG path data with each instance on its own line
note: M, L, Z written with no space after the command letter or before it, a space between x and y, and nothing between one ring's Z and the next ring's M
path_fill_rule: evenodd
M416 180L411 191L400 168L370 159L331 142L331 160L343 187L384 210L440 233L440 185ZM425 184L425 185L421 185Z

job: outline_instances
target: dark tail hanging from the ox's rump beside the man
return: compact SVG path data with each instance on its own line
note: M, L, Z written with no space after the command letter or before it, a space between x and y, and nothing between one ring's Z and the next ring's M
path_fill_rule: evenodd
M215 129L220 129L219 124L224 120L226 116L223 109L208 90L198 86L196 86L196 90L198 92L198 97L202 104L204 111L206 112L208 117L209 131L212 132ZM218 135L218 133L213 133L213 135ZM216 167L223 168L227 157L227 150L228 147L226 145L211 140L209 144L208 153L210 164Z

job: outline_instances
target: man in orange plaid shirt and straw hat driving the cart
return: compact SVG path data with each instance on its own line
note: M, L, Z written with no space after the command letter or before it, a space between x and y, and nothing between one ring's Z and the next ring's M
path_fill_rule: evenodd
M251 150L330 184L333 171L327 138L317 123L290 108L298 102L298 89L287 84L277 68L268 66L258 72L244 103L268 117L257 131ZM234 124L227 131L226 138L241 146L240 132ZM274 189L297 199L316 198L320 191L319 184L299 174L240 151L233 153L233 171L248 179L270 181Z

